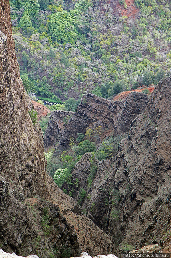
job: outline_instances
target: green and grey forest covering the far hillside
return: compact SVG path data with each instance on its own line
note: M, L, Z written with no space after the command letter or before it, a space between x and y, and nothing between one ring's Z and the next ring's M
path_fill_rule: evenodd
M169 0L135 0L127 16L125 0L10 3L21 78L42 100L108 98L170 73Z

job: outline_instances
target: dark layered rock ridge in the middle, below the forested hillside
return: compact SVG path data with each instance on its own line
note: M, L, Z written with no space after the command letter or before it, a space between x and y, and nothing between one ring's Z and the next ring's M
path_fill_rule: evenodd
M132 92L124 101L110 101L93 94L83 96L77 112L54 111L45 132L45 147L69 147L70 138L77 133L85 134L86 129L101 127L101 140L109 135L118 135L130 129L134 118L141 114L148 103L146 94ZM67 123L63 119L67 118Z

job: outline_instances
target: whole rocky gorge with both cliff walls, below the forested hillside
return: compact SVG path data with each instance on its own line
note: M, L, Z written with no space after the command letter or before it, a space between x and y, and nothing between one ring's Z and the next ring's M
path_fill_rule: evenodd
M171 76L148 88L85 92L75 112L51 112L43 136L0 0L0 255L171 251Z

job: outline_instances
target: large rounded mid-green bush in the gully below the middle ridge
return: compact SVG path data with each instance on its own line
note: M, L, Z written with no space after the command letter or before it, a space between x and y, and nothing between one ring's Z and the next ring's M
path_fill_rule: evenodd
M96 145L94 142L90 140L82 141L78 144L78 146L75 148L75 152L77 155L83 155L86 152L95 152L96 151Z

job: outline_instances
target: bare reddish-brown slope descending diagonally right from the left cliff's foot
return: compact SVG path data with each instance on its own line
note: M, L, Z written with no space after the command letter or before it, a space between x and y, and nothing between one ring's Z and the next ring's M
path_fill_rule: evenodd
M100 230L92 220L88 219L81 212L78 203L63 193L48 175L47 184L51 200L58 203L61 212L66 216L66 221L74 225L81 249L86 250L92 256L98 253L115 253L117 255L118 250L113 245L111 238Z

